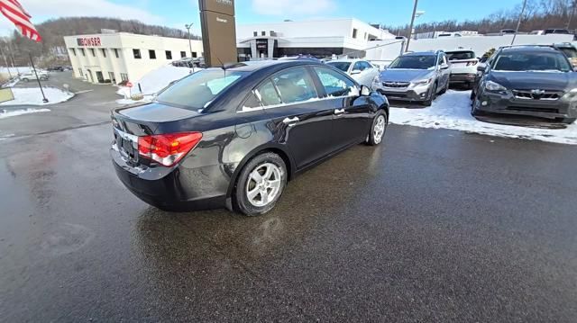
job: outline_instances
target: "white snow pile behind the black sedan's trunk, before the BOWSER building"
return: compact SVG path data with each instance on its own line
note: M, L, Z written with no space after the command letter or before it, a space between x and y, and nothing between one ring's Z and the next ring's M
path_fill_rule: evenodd
M200 70L200 68L195 68L195 72ZM121 87L116 94L123 95L125 98L130 98L132 94L140 94L138 85L141 85L142 94L156 94L170 82L179 80L184 76L188 76L192 73L192 68L188 67L173 67L172 65L167 65L164 67L157 68L141 79L137 81L131 81L133 87Z

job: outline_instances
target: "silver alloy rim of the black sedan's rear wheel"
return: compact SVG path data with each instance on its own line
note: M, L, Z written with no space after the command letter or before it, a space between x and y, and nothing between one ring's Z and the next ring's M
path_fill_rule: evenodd
M259 208L273 202L279 194L281 180L279 166L265 163L254 168L245 188L249 202Z

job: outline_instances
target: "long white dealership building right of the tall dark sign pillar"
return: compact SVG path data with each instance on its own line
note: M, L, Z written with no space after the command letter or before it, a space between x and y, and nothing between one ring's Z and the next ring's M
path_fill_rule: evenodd
M363 57L371 40L395 39L389 31L354 18L238 25L239 58L280 58L299 54Z

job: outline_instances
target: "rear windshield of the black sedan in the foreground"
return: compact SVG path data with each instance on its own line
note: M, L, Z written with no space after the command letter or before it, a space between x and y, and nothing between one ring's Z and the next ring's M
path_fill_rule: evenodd
M203 109L216 95L245 75L246 72L224 73L222 69L206 69L170 85L156 97L156 101L189 110Z

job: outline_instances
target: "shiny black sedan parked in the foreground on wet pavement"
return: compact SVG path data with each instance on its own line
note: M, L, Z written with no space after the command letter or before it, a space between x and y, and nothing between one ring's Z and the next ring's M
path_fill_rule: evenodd
M116 173L142 201L258 215L299 172L379 145L389 103L334 67L262 61L197 72L112 119Z

